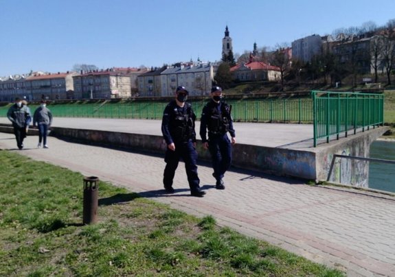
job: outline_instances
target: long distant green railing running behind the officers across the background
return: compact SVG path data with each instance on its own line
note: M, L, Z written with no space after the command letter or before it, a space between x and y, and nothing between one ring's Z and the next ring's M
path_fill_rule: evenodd
M192 99L196 117L200 119L207 99ZM239 122L295 122L312 123L312 101L307 99L229 99L232 117ZM91 117L113 119L161 119L166 101L74 101L49 104L54 117ZM5 117L10 105L0 106L0 116ZM37 105L30 105L34 112Z

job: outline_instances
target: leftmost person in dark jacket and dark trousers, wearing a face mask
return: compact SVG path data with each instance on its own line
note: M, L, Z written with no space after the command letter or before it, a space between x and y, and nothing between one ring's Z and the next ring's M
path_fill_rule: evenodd
M7 117L12 122L16 145L19 149L23 149L23 140L26 137L27 123L30 122L30 110L27 106L22 105L20 98L15 99L15 104L12 105L7 112Z

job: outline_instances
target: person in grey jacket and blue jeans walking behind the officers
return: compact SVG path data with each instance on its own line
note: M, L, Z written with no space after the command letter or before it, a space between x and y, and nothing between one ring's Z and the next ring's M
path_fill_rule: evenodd
M37 147L41 147L41 143L43 142L43 147L48 148L47 134L49 127L52 125L52 112L47 108L47 102L45 100L41 100L40 106L34 111L33 126L36 125L38 125Z

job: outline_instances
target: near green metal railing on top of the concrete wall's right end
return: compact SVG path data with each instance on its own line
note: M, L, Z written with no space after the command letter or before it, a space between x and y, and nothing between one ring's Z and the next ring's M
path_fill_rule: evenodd
M317 140L339 136L348 132L357 133L361 128L384 123L384 95L373 93L333 93L330 91L312 91L314 147Z

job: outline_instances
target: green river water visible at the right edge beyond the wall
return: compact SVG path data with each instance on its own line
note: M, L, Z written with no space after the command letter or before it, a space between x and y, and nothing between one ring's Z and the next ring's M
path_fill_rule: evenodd
M395 141L374 141L370 146L370 158L395 160ZM369 188L395 192L395 165L370 162Z

